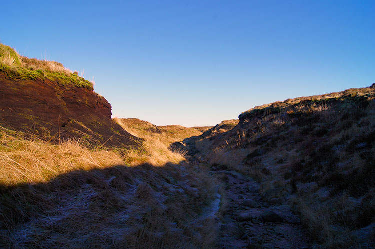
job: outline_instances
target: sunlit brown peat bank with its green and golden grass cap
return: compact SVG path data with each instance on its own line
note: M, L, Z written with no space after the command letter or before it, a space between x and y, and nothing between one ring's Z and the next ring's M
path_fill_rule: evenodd
M46 141L138 146L111 120L111 105L91 82L61 63L20 56L0 44L0 125Z

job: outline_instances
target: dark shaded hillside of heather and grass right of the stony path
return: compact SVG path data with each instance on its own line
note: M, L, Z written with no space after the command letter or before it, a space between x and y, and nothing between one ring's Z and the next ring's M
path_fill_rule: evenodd
M292 206L316 246L370 248L374 117L375 84L258 106L232 129L212 128L185 143L213 172L234 170L258 181L261 198L276 210Z

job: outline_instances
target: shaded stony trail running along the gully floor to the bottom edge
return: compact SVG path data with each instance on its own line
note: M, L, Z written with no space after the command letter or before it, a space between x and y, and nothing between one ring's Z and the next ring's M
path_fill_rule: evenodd
M269 205L259 183L235 171L213 171L225 185L228 207L220 220L219 248L309 248L300 220L287 205Z

